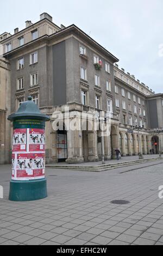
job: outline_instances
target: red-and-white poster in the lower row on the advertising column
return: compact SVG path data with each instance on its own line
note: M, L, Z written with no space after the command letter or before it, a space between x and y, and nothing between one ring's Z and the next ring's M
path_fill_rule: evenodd
M18 154L15 180L45 178L45 154Z

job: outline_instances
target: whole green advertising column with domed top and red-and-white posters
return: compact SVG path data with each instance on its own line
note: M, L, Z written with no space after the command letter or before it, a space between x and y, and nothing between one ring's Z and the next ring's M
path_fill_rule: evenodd
M45 122L49 117L41 114L29 96L8 120L13 121L9 200L23 202L46 198Z

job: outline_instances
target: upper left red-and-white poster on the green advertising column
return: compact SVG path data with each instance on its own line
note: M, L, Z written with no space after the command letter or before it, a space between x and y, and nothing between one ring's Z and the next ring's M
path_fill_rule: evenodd
M13 133L13 152L27 150L27 129L15 129Z

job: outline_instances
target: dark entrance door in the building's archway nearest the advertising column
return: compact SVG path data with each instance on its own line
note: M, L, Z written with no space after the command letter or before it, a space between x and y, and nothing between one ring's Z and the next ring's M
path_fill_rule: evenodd
M65 162L67 159L67 132L58 131L58 162Z

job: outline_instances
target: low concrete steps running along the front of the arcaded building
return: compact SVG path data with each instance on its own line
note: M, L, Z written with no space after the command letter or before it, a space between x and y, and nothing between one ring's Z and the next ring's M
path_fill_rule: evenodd
M66 165L57 165L57 164L47 164L46 168L53 168L53 169L67 169L67 170L80 170L85 172L104 172L106 170L116 169L125 166L133 166L140 163L147 163L147 162L154 162L158 160L163 160L163 157L156 157L153 159L142 159L142 160L133 160L133 161L126 161L126 162L119 162L119 163L108 163L108 164L99 164L97 166L66 166Z

